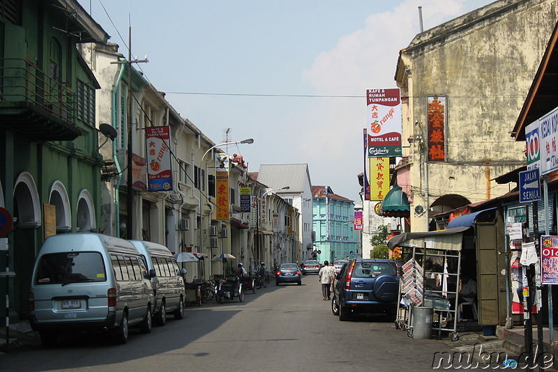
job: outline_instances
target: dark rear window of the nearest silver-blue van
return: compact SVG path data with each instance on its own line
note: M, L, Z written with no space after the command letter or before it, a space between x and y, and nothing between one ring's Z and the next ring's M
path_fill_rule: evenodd
M40 256L35 284L106 281L103 256L98 252L59 252Z

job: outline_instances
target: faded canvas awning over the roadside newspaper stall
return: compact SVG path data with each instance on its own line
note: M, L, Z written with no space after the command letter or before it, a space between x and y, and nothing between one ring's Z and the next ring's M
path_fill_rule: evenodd
M425 231L423 233L395 235L393 238L388 240L388 248L426 247L428 249L459 251L461 249L463 231L468 229L468 226L460 226L439 231Z

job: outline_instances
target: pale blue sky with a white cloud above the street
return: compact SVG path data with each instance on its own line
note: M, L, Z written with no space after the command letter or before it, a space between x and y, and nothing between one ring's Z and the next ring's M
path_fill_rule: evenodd
M78 0L172 107L248 171L306 163L361 204L365 91L396 88L400 49L490 0ZM229 128L228 137L225 130Z

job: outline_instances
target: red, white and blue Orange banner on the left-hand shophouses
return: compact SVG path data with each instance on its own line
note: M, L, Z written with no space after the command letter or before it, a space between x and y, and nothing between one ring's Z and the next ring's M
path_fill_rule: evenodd
M147 190L172 190L169 126L146 127L145 141L147 149Z

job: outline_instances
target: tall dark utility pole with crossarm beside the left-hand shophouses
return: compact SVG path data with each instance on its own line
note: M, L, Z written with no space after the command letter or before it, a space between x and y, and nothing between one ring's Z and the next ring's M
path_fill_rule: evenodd
M128 60L115 61L111 63L124 64L128 67L128 102L126 104L128 123L126 123L126 132L128 134L128 146L126 152L128 157L126 159L126 238L133 239L133 150L132 150L132 63L146 63L149 62L147 56L145 59L138 60L137 57L132 59L132 26L128 26Z

